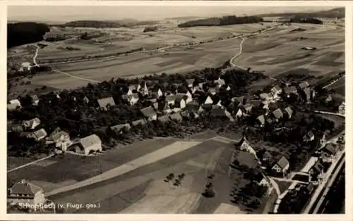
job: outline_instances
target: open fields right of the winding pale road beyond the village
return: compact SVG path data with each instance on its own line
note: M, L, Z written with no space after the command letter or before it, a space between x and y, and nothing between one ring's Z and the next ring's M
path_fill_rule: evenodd
M297 27L303 32L291 32ZM299 39L302 37L303 39ZM246 39L244 53L235 63L265 70L270 76L285 72L306 72L311 75L328 75L345 69L345 30L333 26L292 24L284 30ZM314 51L301 49L316 47Z

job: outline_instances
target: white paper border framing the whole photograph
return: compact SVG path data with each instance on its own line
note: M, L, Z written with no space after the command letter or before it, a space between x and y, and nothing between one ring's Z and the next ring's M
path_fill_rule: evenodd
M346 42L345 42L345 55L346 55L346 106L347 106L347 120L346 120L346 152L347 156L353 156L352 153L352 5L353 1L2 1L0 2L0 68L1 68L1 81L3 84L1 89L1 102L4 111L1 114L1 125L6 125L6 21L7 21L7 8L6 6L345 6L346 8ZM3 158L1 162L6 162L6 130L2 130L0 149L0 156ZM352 186L352 159L346 158L346 208L345 215L95 215L95 214L79 214L79 215L13 215L6 214L6 178L0 182L0 220L352 220L352 201L351 196L353 193ZM6 163L3 164L1 174L6 177ZM4 206L2 206L4 205Z

